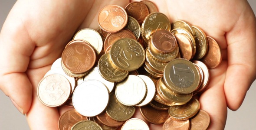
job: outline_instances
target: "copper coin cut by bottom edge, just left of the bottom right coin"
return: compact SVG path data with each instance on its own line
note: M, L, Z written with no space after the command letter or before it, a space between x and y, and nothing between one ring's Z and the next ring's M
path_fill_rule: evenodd
M168 118L163 125L163 130L189 130L189 128L189 120L174 120L171 117Z

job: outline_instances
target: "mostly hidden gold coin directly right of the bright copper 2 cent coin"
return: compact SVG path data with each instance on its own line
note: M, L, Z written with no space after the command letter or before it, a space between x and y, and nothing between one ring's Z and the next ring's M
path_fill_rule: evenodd
M128 16L128 23L125 26L125 29L129 29L137 38L137 40L141 36L141 26L138 21L135 20L135 18L133 18L132 16Z

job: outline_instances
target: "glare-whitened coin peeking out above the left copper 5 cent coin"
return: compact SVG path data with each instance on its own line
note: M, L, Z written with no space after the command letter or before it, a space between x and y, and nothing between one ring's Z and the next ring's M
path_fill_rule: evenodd
M94 29L79 30L77 33L75 33L75 36L73 37L73 40L75 39L83 39L89 42L89 44L95 50L97 55L102 51L102 47L103 47L102 38L100 34Z

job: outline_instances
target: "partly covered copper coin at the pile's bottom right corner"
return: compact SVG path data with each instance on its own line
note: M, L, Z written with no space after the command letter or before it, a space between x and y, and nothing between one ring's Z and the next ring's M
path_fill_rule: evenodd
M210 116L204 110L199 110L198 113L190 119L190 130L207 130L210 124Z

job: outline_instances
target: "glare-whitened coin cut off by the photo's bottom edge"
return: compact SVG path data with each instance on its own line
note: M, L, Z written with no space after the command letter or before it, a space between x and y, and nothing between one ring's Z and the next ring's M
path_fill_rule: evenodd
M121 130L149 130L149 127L143 120L131 118L123 124Z

